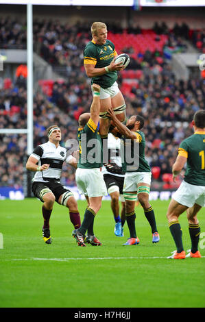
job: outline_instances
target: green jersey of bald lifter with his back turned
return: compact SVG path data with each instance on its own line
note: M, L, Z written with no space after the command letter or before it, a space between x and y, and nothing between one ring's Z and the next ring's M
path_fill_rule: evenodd
M97 125L89 119L88 123L77 131L79 142L79 160L77 168L100 168L103 161L101 137Z

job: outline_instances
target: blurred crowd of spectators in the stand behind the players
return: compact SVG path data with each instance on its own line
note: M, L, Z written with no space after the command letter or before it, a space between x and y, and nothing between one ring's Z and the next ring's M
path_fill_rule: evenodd
M23 44L25 29L18 23L0 20L0 47ZM46 128L58 124L62 130L62 145L69 138L76 138L77 120L82 112L88 112L91 101L91 83L84 73L82 51L91 38L90 23L78 23L71 27L60 22L34 21L34 47L52 65L62 64L67 70L66 82L51 82L49 92L42 86L34 95L34 147L47 142ZM167 46L186 47L183 39L189 39L189 28L184 24L183 34L176 25L169 32L165 24L154 25L157 35L169 35ZM109 25L113 33L121 33L120 27ZM141 33L140 27L128 28L128 33ZM24 35L24 36L23 36ZM193 36L193 34L192 34ZM37 48L39 47L39 48ZM160 58L160 59L159 59ZM132 65L133 63L133 65ZM205 79L176 79L170 61L163 52L149 50L138 55L130 68L141 74L132 83L130 91L123 91L125 75L119 73L127 105L127 116L141 114L145 118L143 132L146 137L146 158L152 167L152 188L173 188L171 166L178 153L178 145L193 133L191 120L196 110L205 108ZM128 80L129 82L129 80ZM13 79L4 80L0 88L0 128L27 127L27 92L25 84ZM22 186L23 162L27 155L25 134L0 134L0 186ZM167 181L166 181L167 180ZM62 184L75 185L75 171L64 164ZM166 186L167 185L167 186Z

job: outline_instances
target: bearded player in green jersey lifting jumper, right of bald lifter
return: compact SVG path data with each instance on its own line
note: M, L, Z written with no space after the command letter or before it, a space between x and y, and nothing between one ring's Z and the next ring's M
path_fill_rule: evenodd
M142 116L133 115L127 121L126 125L123 125L115 116L112 108L109 108L108 114L119 132L123 135L124 140L122 162L123 166L125 165L126 172L123 195L125 198L125 216L130 230L130 238L123 245L137 245L139 243L139 239L136 236L136 214L134 210L137 198L143 207L145 217L152 229L152 243L158 243L160 236L156 227L154 210L149 203L152 172L145 159L145 135L141 131L144 125L144 119ZM136 162L137 160L138 162Z

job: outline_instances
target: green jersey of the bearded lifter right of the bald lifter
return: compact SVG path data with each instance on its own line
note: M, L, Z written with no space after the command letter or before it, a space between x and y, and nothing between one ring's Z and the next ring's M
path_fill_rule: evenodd
M136 140L123 138L123 171L151 172L150 166L145 159L145 134L141 131L134 133L137 137ZM134 146L134 143L137 145Z

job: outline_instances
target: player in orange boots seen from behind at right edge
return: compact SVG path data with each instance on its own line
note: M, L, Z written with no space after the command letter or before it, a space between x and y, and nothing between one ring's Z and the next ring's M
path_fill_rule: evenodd
M186 164L184 180L173 195L167 211L169 230L176 244L176 251L168 258L202 257L198 250L200 223L197 213L205 206L205 110L195 112L192 121L194 134L180 143L176 162L172 166L173 180ZM186 211L189 223L191 249L186 255L182 244L182 230L178 221Z

